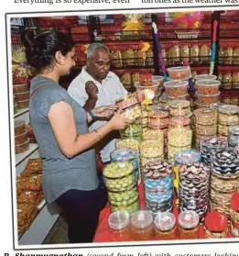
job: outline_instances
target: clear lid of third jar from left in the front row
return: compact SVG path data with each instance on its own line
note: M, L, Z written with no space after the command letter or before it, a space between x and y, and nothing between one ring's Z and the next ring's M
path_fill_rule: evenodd
M154 221L156 228L162 231L168 231L174 228L175 223L176 223L176 217L169 212L162 212L162 213L158 212Z

